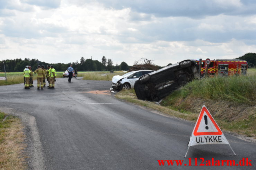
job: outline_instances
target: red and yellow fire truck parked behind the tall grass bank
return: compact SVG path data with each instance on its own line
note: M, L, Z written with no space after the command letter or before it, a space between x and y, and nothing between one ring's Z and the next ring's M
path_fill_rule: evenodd
M199 64L199 60L196 60ZM208 67L208 74L220 74L222 76L233 74L246 74L248 69L248 63L246 60L236 59L218 59L211 60ZM201 74L204 74L206 70L205 60L202 60Z

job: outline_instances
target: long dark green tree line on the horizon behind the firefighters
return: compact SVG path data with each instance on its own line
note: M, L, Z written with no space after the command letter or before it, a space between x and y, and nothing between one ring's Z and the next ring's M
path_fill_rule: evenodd
M38 65L53 65L57 71L65 71L72 64L73 68L78 71L117 71L117 70L129 70L131 66L128 66L126 62L121 62L120 65L117 63L113 64L112 59L107 59L105 56L102 57L101 62L98 60L85 59L81 57L80 61L64 63L47 63L44 61L39 61L37 59L7 59L0 61L0 72L4 72L3 62L5 62L6 72L20 72L23 71L26 66L31 66L33 70L37 68Z

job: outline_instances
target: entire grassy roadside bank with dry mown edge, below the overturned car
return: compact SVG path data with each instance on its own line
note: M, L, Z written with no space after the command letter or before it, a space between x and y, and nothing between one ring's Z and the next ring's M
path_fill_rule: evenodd
M194 122L205 105L222 130L256 138L255 84L256 69L249 69L248 76L194 80L163 99L161 105L138 100L134 89L122 90L116 97Z

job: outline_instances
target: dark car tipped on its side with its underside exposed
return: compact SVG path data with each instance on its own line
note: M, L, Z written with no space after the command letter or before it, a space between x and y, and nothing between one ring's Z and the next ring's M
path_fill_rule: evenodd
M134 90L141 100L159 101L194 78L200 78L195 60L184 60L141 76Z

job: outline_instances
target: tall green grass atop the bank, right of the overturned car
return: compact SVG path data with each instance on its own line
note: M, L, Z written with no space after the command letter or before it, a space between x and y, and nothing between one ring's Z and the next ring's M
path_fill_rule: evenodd
M256 75L212 77L194 80L174 91L164 100L172 105L187 97L230 101L239 104L256 104Z

